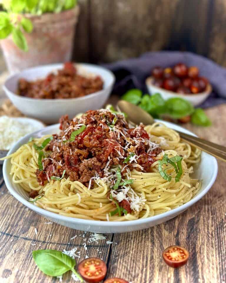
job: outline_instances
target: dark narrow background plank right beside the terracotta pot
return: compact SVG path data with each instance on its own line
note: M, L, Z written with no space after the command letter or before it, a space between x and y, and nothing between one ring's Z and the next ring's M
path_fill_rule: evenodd
M89 62L89 1L79 1L80 14L74 35L72 56L75 62Z

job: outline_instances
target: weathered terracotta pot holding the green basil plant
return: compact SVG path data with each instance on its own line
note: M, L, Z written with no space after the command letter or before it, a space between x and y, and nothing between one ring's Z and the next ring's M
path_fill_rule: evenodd
M11 36L0 41L9 72L13 74L28 67L69 61L78 15L79 6L59 14L26 14L34 27L32 33L24 32L29 50L20 50Z

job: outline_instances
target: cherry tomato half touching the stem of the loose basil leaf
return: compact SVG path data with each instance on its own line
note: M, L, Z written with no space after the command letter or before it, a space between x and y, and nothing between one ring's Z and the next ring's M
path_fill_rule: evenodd
M107 273L107 266L101 259L90 257L79 263L78 271L85 281L97 283L104 279Z

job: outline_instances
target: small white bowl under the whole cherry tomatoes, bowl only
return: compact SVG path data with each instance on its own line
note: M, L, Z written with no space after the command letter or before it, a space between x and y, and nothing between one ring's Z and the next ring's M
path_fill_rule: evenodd
M146 86L149 94L160 93L164 100L167 100L172 97L180 97L192 103L193 106L200 105L203 101L207 99L208 96L210 96L210 93L212 92L212 87L210 84L207 85L206 90L203 92L196 94L189 94L189 93L181 94L181 93L176 93L174 91L168 91L167 89L164 88L159 88L155 86L153 82L154 82L153 77L148 77L146 79Z

